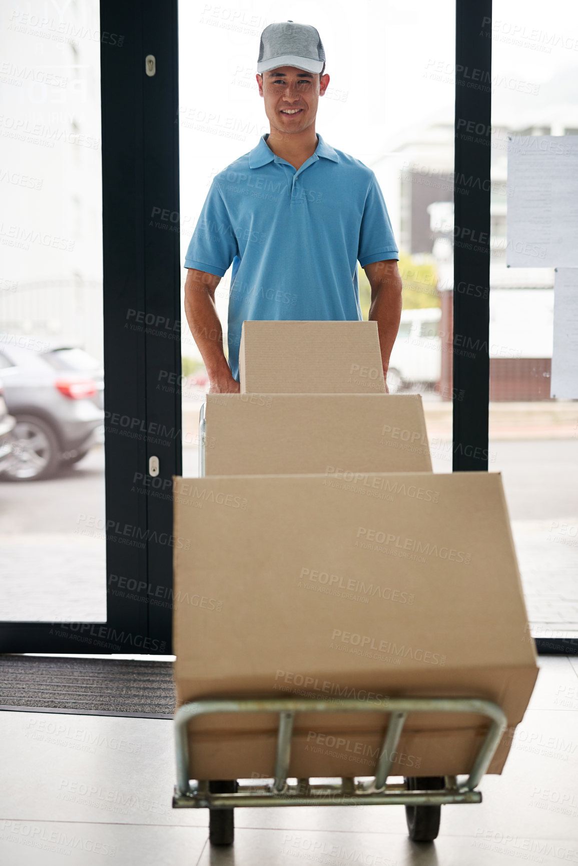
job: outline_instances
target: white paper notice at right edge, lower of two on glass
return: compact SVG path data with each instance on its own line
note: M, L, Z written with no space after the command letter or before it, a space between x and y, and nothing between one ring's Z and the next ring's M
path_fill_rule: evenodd
M550 397L578 398L578 268L555 272Z

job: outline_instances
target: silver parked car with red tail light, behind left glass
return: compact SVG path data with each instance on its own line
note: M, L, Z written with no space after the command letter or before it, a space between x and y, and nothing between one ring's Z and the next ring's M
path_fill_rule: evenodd
M0 337L4 399L16 418L12 459L1 477L38 481L103 441L104 374L96 359L74 346L47 348L29 338L20 343Z

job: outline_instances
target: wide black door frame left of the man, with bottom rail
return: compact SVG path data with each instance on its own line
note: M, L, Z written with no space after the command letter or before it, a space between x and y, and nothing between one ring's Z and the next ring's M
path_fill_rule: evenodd
M172 550L186 543L172 538L172 475L182 472L178 44L178 0L101 0L107 622L3 623L2 652L172 653Z

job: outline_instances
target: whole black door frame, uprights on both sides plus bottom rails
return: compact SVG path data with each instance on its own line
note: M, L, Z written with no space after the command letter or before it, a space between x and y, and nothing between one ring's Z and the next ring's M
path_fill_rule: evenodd
M491 0L456 0L453 471L488 469L491 16ZM101 0L107 623L3 623L2 652L172 653L172 549L190 543L172 537L172 475L182 473L178 46L178 0ZM466 196L467 178L479 183ZM482 348L466 355L464 339ZM577 651L562 638L536 645Z

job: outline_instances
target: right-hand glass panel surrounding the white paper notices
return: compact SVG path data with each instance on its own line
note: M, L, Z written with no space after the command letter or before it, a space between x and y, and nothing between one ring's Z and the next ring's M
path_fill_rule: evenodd
M549 194L572 178L564 162L578 146L572 12L570 3L494 0L493 23L486 24L494 81L490 469L503 473L532 634L546 651L559 637L574 646L578 638L578 404L568 395L555 397L551 378L555 268L568 260L558 262L548 249L556 231ZM553 159L522 183L510 176L516 151ZM545 173L555 168L554 159L562 181ZM536 196L541 214L534 226L521 224L518 202ZM575 249L573 234L569 223L560 232Z

